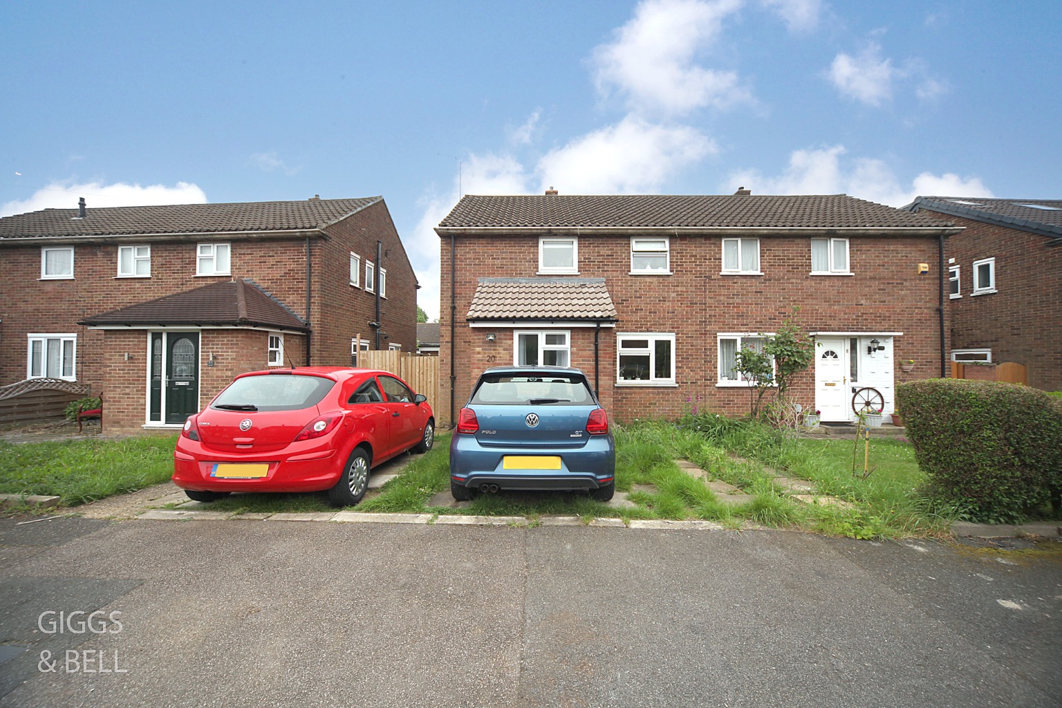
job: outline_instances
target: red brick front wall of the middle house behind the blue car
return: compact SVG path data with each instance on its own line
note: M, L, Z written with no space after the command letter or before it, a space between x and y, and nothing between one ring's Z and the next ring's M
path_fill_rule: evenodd
M450 259L449 237L442 254L442 351L440 419L449 416ZM457 237L455 409L467 400L484 368L513 361L513 335L506 328L469 328L465 316L480 277L535 277L537 237ZM938 376L938 252L935 238L853 237L854 276L810 276L808 238L760 238L763 276L721 276L721 237L671 239L671 276L631 276L630 239L622 236L579 238L578 277L603 277L619 313L615 329L602 329L599 395L618 419L674 418L700 397L699 410L747 413L746 388L717 387L719 332L775 331L793 305L809 331L898 331L894 361L896 383ZM928 275L918 275L928 263ZM489 344L485 333L497 341ZM615 385L616 332L674 332L678 387ZM491 360L491 357L494 359ZM914 359L910 374L900 360ZM594 330L571 328L571 364L594 377ZM804 405L815 401L813 372L793 390ZM687 403L687 399L690 400Z

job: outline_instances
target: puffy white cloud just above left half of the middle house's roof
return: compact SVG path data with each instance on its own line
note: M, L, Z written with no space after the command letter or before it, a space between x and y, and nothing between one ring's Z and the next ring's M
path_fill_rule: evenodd
M632 116L581 136L538 160L542 185L562 194L655 191L676 170L717 152L692 127L663 126Z

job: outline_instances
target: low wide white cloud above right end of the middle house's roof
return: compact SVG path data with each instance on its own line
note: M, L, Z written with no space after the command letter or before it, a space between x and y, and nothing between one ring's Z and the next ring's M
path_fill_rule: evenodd
M993 196L979 177L950 172L923 172L904 185L884 160L860 157L844 161L845 152L843 145L798 150L790 154L781 175L766 177L755 170L741 170L730 175L723 189L743 186L753 194L844 193L893 207L909 204L919 195Z

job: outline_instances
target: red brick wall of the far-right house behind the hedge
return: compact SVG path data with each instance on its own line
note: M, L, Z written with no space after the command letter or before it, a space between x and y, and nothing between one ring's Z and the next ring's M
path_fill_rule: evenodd
M1029 385L1062 391L1062 247L1050 237L928 212L965 226L948 238L962 297L950 299L952 346L991 348L993 362L1026 367ZM995 258L995 293L972 295L974 261Z

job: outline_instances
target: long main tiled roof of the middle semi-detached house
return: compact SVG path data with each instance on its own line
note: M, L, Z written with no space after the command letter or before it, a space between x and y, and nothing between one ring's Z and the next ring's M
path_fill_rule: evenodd
M941 228L940 220L846 194L463 196L446 228Z

